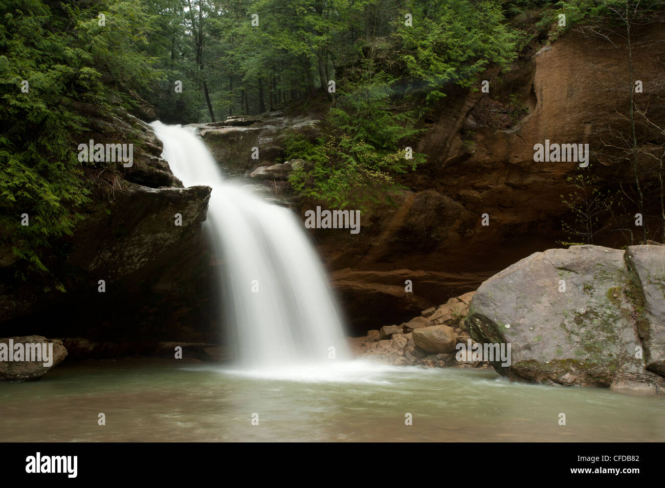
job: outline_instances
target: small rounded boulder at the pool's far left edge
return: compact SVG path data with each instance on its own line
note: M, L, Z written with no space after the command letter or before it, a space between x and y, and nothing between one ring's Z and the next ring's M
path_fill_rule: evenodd
M15 355L17 350L21 350L21 356ZM43 352L46 352L46 356L42 355ZM10 361L4 354L11 354L12 358L19 357L20 360ZM67 350L63 346L63 341L58 339L51 340L42 336L1 338L0 380L35 380L62 362L66 356ZM33 358L39 360L29 360Z

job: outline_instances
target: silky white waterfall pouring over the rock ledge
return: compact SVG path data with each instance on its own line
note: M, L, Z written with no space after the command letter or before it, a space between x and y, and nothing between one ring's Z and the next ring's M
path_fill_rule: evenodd
M205 225L225 261L219 300L241 366L289 376L347 358L326 273L295 215L267 203L250 185L225 180L194 128L152 127L173 174L186 187L212 188ZM256 283L258 292L252 291Z

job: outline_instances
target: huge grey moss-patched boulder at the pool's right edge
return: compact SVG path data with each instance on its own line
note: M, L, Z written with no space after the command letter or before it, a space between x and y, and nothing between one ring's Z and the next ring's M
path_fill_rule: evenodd
M511 344L511 364L492 363L511 380L664 393L664 257L653 245L534 253L479 287L469 334Z

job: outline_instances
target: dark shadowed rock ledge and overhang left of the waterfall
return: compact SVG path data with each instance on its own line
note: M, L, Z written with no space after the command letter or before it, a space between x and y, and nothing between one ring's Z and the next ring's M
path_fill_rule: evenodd
M92 194L80 210L85 218L46 261L66 293L45 291L35 277L15 279L13 260L4 259L11 248L0 248L0 331L134 342L137 354L142 340L217 342L202 229L209 187L184 188L160 158L162 142L140 120L81 110L92 114L95 142L134 144L133 165L86 168Z

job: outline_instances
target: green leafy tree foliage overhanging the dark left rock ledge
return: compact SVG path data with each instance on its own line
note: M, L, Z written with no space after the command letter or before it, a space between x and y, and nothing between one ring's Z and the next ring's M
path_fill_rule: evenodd
M154 76L136 0L88 8L8 0L0 18L0 255L24 263L25 277L47 273L47 249L72 234L88 201L75 150L88 131L82 111L131 108L131 93Z

